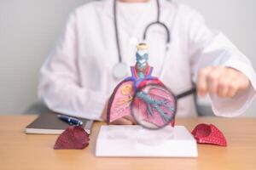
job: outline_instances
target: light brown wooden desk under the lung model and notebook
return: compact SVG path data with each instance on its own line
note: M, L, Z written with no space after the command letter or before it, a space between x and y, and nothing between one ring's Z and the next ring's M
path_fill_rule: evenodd
M84 150L53 150L57 135L26 135L35 116L0 116L0 169L256 169L255 118L177 119L191 130L201 122L224 132L228 147L200 144L198 158L100 158L95 156L97 122Z

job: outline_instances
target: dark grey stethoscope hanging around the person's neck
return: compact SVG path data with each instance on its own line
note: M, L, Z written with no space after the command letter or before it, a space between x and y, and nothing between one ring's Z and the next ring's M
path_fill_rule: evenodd
M116 46L118 50L119 55L119 63L113 66L113 77L116 80L120 80L127 76L127 65L122 60L121 50L120 50L120 42L119 42L119 28L118 28L118 20L117 20L117 1L113 0L113 22L114 22L114 30L115 30L115 37L116 37ZM166 24L162 23L160 21L160 0L156 0L156 7L157 7L157 18L156 21L149 23L148 26L146 26L145 31L143 33L143 41L147 38L147 32L150 28L150 26L161 26L166 31L166 47L169 46L171 42L171 33L166 26Z

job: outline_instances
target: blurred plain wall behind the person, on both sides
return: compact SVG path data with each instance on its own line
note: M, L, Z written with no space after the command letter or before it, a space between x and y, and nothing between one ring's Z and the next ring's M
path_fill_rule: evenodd
M196 8L224 31L256 68L255 0L175 0ZM0 114L21 114L38 102L38 71L67 15L88 0L0 0ZM256 101L243 116L256 116Z

